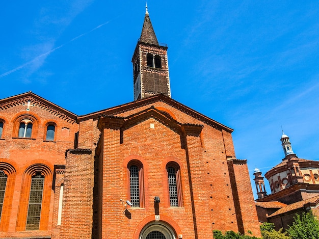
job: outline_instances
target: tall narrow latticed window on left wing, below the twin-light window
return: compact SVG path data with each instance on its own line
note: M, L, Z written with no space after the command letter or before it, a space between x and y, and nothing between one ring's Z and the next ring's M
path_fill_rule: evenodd
M44 176L40 172L31 179L28 217L26 218L26 230L39 230L42 206Z

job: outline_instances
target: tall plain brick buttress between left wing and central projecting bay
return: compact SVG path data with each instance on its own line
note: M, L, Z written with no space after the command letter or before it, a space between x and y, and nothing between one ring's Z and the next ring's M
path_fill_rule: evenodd
M65 166L60 237L91 238L94 160L91 151L71 150ZM58 237L53 237L58 238Z

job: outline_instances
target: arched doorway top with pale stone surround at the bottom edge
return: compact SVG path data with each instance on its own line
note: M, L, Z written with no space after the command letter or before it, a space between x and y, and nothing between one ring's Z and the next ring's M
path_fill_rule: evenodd
M175 231L163 222L147 224L140 233L140 239L176 239Z

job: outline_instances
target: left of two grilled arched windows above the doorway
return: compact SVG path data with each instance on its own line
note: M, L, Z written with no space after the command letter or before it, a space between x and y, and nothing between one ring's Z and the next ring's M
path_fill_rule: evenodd
M128 165L129 193L132 207L143 207L143 165L139 161L132 161Z

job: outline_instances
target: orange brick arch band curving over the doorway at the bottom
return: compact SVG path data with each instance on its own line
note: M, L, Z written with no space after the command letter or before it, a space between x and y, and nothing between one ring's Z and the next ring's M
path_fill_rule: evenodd
M182 234L180 227L173 219L171 219L170 217L167 217L165 215L161 215L160 217L161 217L161 220L159 220L159 223L162 225L164 223L167 227L171 227L171 229L173 229L173 231L175 233L176 238L178 238L179 234ZM155 223L155 215L151 215L151 216L144 218L139 223L139 225L136 227L132 239L140 239L141 232L143 231L143 229L145 227L148 227L148 226L153 225L153 224L156 224Z

